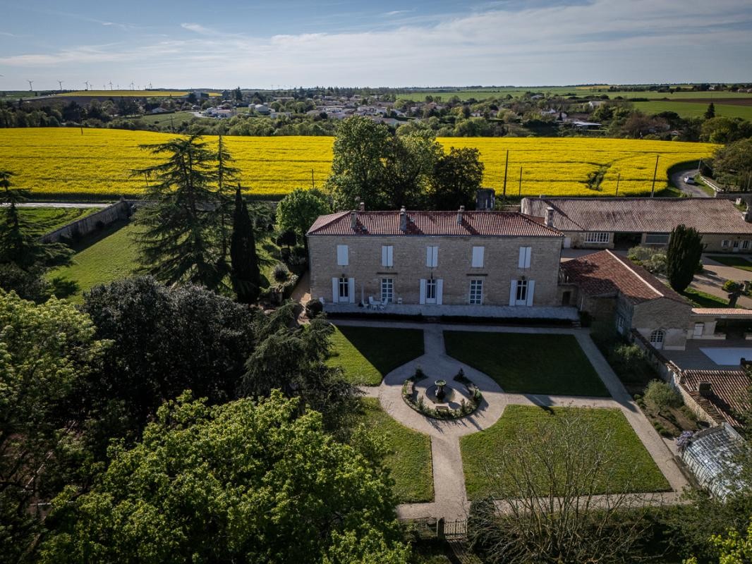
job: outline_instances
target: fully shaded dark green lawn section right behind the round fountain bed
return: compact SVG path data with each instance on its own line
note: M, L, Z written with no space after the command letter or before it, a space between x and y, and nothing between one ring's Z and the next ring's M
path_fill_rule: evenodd
M608 390L573 335L444 331L447 354L505 392L602 396Z

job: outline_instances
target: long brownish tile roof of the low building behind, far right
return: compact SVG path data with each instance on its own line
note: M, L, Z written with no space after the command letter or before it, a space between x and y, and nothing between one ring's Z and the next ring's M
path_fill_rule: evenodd
M720 198L524 198L522 211L560 231L669 233L680 223L701 233L752 235L732 202Z

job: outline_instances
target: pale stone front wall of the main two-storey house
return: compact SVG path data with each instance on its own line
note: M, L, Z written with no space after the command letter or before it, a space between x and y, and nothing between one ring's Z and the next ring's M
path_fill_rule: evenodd
M347 244L349 264L337 265L337 245ZM393 246L393 266L384 267L381 247ZM426 266L426 247L438 247L438 265ZM394 299L420 303L420 279L443 280L443 304L466 305L470 280L483 282L483 305L509 305L511 280L535 280L533 304L560 304L557 290L560 237L426 237L400 235L333 236L308 238L311 296L332 301L332 278L355 279L356 302L362 292L381 296L381 279L394 280ZM484 247L484 266L472 267L472 247ZM518 268L520 247L532 247L530 268Z

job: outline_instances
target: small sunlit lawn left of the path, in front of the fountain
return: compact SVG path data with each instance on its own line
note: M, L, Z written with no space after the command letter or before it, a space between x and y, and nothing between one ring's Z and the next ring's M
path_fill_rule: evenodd
M383 436L390 450L384 465L395 481L394 493L399 502L432 502L431 438L397 423L381 409L378 399L363 398L362 402L359 419Z

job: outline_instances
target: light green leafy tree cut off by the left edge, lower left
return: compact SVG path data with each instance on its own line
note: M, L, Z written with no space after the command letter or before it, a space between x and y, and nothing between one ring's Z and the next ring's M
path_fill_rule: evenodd
M0 290L0 562L28 556L59 491L82 430L76 393L106 349L94 332L73 305Z

